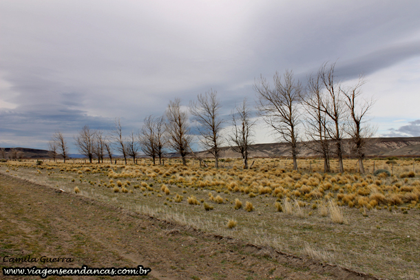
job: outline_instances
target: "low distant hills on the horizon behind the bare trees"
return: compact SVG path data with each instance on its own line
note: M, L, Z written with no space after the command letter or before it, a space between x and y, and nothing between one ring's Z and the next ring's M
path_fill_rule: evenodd
M372 144L366 151L368 157L389 157L389 156L406 156L406 157L420 157L420 137L399 137L399 138L372 138ZM311 142L302 142L299 144L299 157L315 157L317 156L311 149L308 148ZM349 154L348 140L343 142L344 153ZM21 158L50 158L48 151L30 148L14 148L21 153ZM10 148L5 148L6 158L10 152ZM200 151L196 153L202 158L211 158L207 151ZM168 153L167 158L177 158L178 153ZM251 158L273 158L273 157L291 157L289 145L286 143L268 143L268 144L253 144L249 147L249 156ZM118 155L113 155L114 158L120 158ZM190 158L192 155L189 156ZM222 148L222 158L240 158L239 153L235 153L230 147ZM1 158L1 154L0 154ZM85 158L83 155L70 154L70 158Z

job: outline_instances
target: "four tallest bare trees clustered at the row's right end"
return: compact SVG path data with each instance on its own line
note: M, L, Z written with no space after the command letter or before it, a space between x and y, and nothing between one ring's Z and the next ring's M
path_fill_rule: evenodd
M305 138L309 140L306 147L324 158L324 172L330 172L332 153L337 155L339 172L344 172L343 140L349 138L359 171L364 173L364 151L375 134L367 119L374 100L361 96L363 76L356 85L344 86L337 81L334 68L335 63L324 63L317 74L308 77L306 87L287 70L283 78L274 75L273 85L261 76L254 85L258 112L280 141L290 144L293 169L297 169L297 143Z

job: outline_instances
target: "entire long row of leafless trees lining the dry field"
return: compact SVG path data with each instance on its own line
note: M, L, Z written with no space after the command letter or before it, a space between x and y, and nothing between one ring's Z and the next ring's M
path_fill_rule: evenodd
M293 169L297 169L298 142L305 139L308 140L306 146L324 158L325 172L330 171L329 159L333 153L337 154L339 171L343 172L342 141L350 138L353 152L359 158L359 169L364 172L364 149L368 138L375 132L366 122L366 114L373 101L362 99L360 87L364 84L363 77L353 87L344 86L336 80L334 68L335 64L324 63L317 74L308 77L306 86L295 80L293 72L288 70L283 76L276 72L273 85L262 76L255 80L258 114L280 142L290 144ZM197 100L190 101L188 111L182 110L181 100L176 98L169 101L163 116L147 116L137 133L132 131L125 137L120 119L117 118L108 136L86 125L74 137L74 144L90 162L93 158L103 161L105 151L112 162L115 149L123 155L126 163L127 157L132 157L136 162L136 157L143 151L153 158L154 164L156 158L162 164L162 155L171 150L178 152L182 163L186 165L189 153L202 160L191 149L191 114L193 122L197 124L202 147L213 155L216 168L222 146L227 142L229 147L242 155L244 168L247 169L255 118L246 98L231 111L229 121L221 118L221 107L217 93L213 90L199 94ZM229 122L232 129L223 136L225 122ZM67 157L67 143L60 131L52 136L50 151L54 158L56 155Z

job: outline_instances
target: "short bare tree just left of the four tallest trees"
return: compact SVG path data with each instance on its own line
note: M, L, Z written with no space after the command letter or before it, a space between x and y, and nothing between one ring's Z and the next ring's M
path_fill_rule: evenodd
M246 98L242 105L236 106L231 111L231 125L233 125L233 131L228 136L229 146L242 155L244 169L248 169L248 148L252 144L255 121L251 121L251 111L246 104Z

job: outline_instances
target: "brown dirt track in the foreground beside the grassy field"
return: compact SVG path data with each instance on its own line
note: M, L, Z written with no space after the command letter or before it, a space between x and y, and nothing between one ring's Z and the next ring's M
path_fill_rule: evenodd
M145 279L376 279L0 174L1 267L12 266L3 262L5 256L28 255L74 259L68 264L49 264L56 267L141 264L151 268ZM30 266L45 264L30 263ZM34 279L2 274L1 277ZM74 279L80 278L99 279Z

